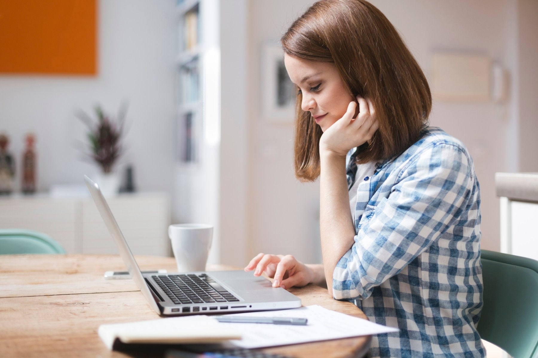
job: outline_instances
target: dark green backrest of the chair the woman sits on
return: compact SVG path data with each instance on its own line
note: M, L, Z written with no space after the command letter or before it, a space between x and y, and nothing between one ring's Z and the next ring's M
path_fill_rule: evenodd
M538 261L482 250L482 339L513 357L538 357Z

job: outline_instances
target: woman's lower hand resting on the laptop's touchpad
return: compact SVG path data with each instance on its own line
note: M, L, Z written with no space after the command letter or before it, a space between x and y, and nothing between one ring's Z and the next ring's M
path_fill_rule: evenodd
M292 255L271 255L260 253L254 257L245 271L249 272L256 268L254 276L262 273L273 280L273 287L290 288L302 287L312 282L314 273L310 267L296 260Z

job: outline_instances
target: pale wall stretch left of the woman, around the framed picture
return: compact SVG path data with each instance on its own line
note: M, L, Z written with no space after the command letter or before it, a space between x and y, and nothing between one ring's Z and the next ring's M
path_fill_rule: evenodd
M293 171L292 125L267 123L261 99L261 50L278 43L308 1L251 1L249 38L249 258L259 252L321 262L319 185L301 184Z

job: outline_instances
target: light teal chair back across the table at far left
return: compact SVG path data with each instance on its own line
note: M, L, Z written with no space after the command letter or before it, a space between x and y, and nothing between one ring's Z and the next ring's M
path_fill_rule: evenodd
M66 253L63 247L44 233L32 230L0 229L0 254Z

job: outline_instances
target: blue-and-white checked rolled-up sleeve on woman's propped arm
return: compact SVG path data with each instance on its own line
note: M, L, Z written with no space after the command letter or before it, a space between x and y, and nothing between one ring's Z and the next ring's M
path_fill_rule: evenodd
M432 144L409 159L338 261L332 276L335 299L369 297L450 228L470 200L469 160L451 143Z

